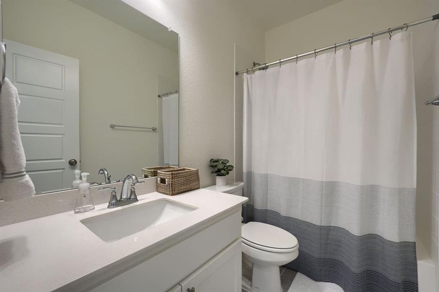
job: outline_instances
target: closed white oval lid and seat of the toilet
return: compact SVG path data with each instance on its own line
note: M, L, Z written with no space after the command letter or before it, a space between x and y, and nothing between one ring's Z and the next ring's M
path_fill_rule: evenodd
M270 250L291 250L299 244L291 233L266 223L248 222L242 226L241 232L244 243L262 250L265 250L264 247Z

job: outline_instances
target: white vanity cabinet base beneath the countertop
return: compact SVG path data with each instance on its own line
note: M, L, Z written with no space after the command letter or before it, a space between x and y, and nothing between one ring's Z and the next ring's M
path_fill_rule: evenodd
M217 220L91 291L241 292L241 214Z

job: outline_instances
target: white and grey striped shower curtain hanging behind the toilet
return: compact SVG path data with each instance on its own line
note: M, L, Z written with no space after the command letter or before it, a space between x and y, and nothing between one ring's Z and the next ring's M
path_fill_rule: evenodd
M247 221L345 292L418 291L410 33L244 76Z

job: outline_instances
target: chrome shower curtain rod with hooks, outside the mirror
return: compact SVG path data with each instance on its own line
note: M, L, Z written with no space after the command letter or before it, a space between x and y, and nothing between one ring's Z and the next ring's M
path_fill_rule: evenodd
M252 71L254 73L255 70L260 70L260 69L266 70L269 66L278 65L278 64L282 65L282 63L284 63L284 62L291 61L291 60L294 60L294 59L297 60L297 59L299 59L301 57L305 57L305 56L308 56L308 55L315 55L315 56L317 56L317 53L324 52L324 51L331 50L331 49L336 49L337 50L337 48L343 47L345 45L352 46L353 43L356 43L356 42L359 42L359 41L362 41L362 40L365 40L365 39L368 39L368 38L371 38L372 42L373 42L373 38L374 37L378 37L378 36L385 35L385 34L389 34L389 37L391 38L392 37L391 33L394 32L394 31L397 31L397 30L400 30L400 29L402 30L404 28L407 30L411 26L418 25L418 24L421 24L421 23L424 23L424 22L428 22L428 21L431 21L431 20L437 20L437 19L439 19L439 14L433 15L433 16L428 17L428 18L420 19L418 21L413 21L413 22L410 22L410 23L404 23L404 24L402 24L400 26L397 26L397 27L394 27L394 28L389 28L389 29L383 30L381 32L371 33L370 35L367 35L367 36L357 37L357 38L354 38L354 39L346 40L346 41L338 43L338 44L333 44L331 46L327 46L327 47L324 47L324 48L315 49L315 50L309 51L307 53L291 56L291 57L288 57L288 58L285 58L285 59L280 59L278 61L274 61L274 62L271 62L271 63L265 63L265 64L260 65L260 66L252 67L251 69L236 71L235 74L239 75L239 74L242 74L242 73L248 73L248 71Z

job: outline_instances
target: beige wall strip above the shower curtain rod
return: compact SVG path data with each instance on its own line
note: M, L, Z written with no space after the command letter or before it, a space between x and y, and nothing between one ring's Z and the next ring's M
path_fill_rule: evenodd
M426 18L437 0L344 0L266 32L267 62ZM436 4L437 5L437 4Z

